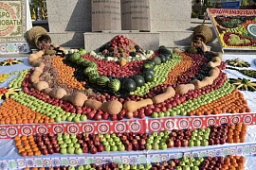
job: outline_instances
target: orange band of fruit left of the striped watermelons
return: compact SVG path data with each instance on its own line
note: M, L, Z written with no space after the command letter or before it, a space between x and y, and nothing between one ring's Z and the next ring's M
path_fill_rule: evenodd
M52 59L52 66L54 66L59 73L59 83L65 83L68 88L73 87L79 90L85 90L83 85L85 85L86 82L79 82L74 76L75 69L65 65L63 59L65 58L61 58L60 56Z

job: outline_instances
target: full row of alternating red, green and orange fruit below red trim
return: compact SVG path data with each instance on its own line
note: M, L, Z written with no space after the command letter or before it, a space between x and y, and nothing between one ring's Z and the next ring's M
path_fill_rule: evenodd
M88 134L86 132L76 134L40 134L29 136L30 146L37 147L35 151L41 151L43 155L62 153L97 154L103 151L137 151L137 150L165 150L173 147L208 146L214 144L245 143L247 125L225 124L199 129L173 129L162 132L149 133L112 133L112 134ZM27 136L14 138L18 152L23 156L30 147L27 146ZM28 144L28 145L29 145Z

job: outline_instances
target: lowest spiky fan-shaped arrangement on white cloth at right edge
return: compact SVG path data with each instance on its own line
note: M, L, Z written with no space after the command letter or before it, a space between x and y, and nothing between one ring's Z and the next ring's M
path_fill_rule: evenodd
M240 90L255 92L256 81L250 81L246 78L230 78L230 83Z

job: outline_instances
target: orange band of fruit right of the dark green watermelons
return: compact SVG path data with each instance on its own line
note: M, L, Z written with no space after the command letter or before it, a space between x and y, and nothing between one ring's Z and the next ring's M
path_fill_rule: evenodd
M177 63L169 72L163 84L176 84L177 77L192 67L192 58L185 53L180 53L181 62Z

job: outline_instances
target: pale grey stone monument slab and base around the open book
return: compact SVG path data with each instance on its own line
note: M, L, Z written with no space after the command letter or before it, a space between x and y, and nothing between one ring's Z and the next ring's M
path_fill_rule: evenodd
M106 0L95 1L103 2ZM136 3L147 2L147 0L121 0L120 2L125 1L130 2L130 7L135 6ZM191 0L148 0L148 3L144 6L149 6L145 15L149 17L150 22L143 25L150 27L150 29L145 29L148 32L138 31L144 28L140 29L133 26L128 27L126 31L124 31L125 26L122 26L122 30L92 32L92 0L66 0L65 3L63 3L63 0L47 0L48 35L52 42L69 47L83 46L87 51L100 47L119 34L134 39L143 49L156 50L160 44L167 47L190 46L192 38L192 30L190 30ZM123 10L127 12L129 10L135 11L134 8ZM122 20L125 20L123 18L122 16L121 23L123 23ZM125 22L131 23L131 21L133 20L130 19L130 21ZM137 31L134 31L136 29Z

